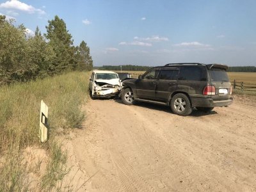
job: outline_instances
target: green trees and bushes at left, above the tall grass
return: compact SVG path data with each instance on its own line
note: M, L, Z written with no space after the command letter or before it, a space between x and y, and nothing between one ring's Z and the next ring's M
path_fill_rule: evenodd
M82 41L73 45L63 19L55 16L42 35L28 35L23 24L0 15L0 84L54 76L72 70L92 70L90 47Z

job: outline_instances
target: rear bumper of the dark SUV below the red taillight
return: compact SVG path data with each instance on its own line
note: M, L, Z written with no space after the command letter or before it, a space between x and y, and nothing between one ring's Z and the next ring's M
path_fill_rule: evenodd
M227 100L213 100L206 98L191 97L192 107L214 108L229 106L233 102L233 98Z

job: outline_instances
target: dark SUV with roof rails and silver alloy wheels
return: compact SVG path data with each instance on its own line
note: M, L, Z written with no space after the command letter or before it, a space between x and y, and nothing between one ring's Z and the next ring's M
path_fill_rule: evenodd
M211 111L232 103L232 86L227 65L170 63L150 68L138 79L122 82L124 104L136 100L164 104L177 115L189 115L193 108Z

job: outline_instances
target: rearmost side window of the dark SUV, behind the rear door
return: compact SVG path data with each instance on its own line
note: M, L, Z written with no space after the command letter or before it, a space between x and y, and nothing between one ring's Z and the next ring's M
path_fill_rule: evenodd
M205 67L180 67L179 80L207 81Z

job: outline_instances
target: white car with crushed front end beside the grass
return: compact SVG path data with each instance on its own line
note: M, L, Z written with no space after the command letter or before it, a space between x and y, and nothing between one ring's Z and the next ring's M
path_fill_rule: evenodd
M108 70L93 70L89 81L92 98L118 95L121 83L118 74Z

